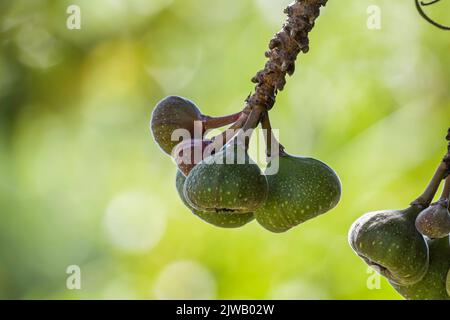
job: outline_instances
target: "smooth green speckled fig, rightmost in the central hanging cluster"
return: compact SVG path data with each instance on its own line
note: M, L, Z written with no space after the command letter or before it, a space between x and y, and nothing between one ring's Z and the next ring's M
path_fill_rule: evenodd
M337 205L341 183L330 167L316 159L290 155L281 155L278 160L278 172L267 175L268 198L255 211L261 226L285 232Z

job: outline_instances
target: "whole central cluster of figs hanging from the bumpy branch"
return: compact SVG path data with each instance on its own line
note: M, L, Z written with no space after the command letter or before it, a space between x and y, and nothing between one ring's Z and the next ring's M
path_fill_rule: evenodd
M245 135L249 122L258 125L260 118L255 122L253 112L245 110L209 117L178 96L156 105L151 131L159 147L175 160L176 189L184 205L217 227L239 228L256 220L275 233L334 208L341 184L323 162L289 155L280 146L276 152L268 150L270 157L262 172L248 155L250 137ZM207 138L211 129L225 126L229 127L223 133ZM266 139L266 144L270 141ZM275 162L276 172L268 174Z

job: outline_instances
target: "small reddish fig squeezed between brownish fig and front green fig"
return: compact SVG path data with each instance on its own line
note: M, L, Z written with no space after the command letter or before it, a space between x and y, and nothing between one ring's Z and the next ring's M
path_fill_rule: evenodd
M206 147L212 143L210 139L189 139L177 144L173 149L172 157L174 158L178 169L185 176L200 163L205 155Z

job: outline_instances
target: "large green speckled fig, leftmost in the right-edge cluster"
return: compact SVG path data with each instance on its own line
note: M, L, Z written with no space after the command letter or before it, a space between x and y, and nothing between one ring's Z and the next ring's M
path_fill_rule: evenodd
M367 213L350 229L353 250L392 283L412 285L426 274L428 245L417 231L419 206Z

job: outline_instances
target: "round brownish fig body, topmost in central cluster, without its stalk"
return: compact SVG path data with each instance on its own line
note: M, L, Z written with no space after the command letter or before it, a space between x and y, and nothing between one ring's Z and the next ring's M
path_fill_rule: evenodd
M171 154L179 141L172 141L176 129L186 129L194 137L194 121L202 121L204 116L190 100L169 96L158 102L152 113L150 127L160 148Z

